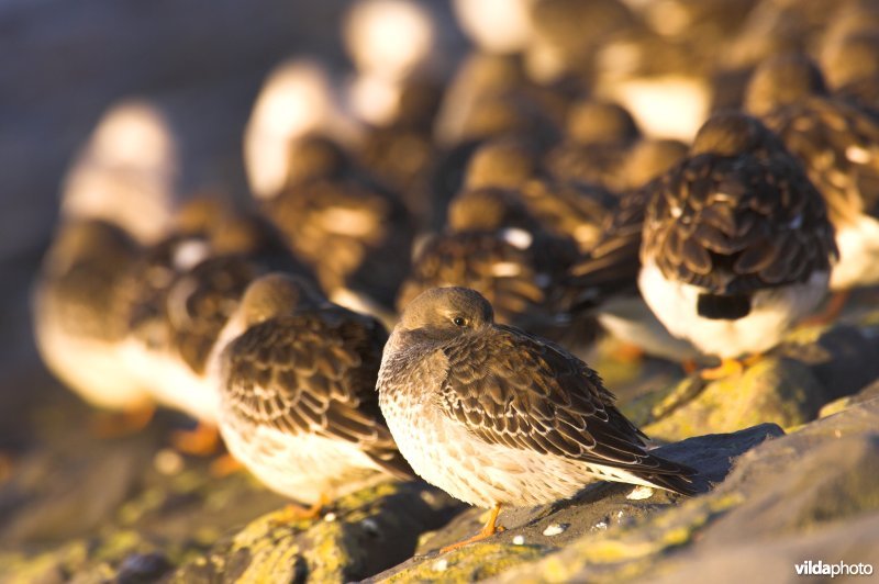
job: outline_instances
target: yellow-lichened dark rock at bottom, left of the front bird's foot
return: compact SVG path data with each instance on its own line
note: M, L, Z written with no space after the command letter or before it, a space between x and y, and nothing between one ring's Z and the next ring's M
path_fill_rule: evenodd
M264 515L183 565L170 582L348 582L411 557L419 535L460 507L416 483L385 483L346 496L316 520Z

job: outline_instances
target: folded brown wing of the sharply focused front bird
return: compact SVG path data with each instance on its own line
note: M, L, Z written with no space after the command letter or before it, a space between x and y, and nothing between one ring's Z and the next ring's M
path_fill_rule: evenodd
M598 374L553 344L498 326L444 351L439 405L486 442L647 474L693 473L649 454Z

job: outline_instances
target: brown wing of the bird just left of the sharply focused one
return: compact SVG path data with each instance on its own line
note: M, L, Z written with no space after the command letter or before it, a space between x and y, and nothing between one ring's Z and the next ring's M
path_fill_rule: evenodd
M266 321L224 350L223 398L254 424L354 442L409 478L375 391L386 340L375 319L335 307Z

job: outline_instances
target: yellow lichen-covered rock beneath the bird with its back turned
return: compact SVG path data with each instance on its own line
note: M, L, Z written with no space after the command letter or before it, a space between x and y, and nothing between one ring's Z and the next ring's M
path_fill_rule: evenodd
M879 315L791 332L777 350L741 374L705 382L691 375L623 400L623 412L652 438L674 441L764 422L794 428L827 402L879 379Z

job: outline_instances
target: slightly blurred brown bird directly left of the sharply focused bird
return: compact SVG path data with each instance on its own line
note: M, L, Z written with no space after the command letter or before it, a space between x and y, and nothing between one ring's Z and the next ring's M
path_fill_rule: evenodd
M251 284L223 339L220 428L267 486L315 503L411 478L378 407L387 333L375 318L274 273Z

